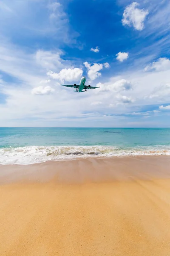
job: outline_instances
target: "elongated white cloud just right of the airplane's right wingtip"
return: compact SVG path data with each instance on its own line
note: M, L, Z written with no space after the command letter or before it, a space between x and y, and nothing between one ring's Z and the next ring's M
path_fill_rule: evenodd
M130 81L125 79L121 79L115 82L108 82L108 83L98 83L97 86L100 87L100 91L122 91L122 90L130 90L132 89L132 84Z

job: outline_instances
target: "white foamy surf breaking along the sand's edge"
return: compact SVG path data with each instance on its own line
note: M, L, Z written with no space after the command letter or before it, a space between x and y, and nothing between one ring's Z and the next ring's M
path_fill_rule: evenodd
M28 146L1 148L0 164L32 164L86 157L170 155L170 146L121 149L113 146Z

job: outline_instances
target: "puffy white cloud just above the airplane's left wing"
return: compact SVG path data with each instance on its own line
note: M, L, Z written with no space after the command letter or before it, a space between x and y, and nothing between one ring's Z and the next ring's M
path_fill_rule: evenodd
M53 79L57 79L59 81L77 81L82 76L81 68L64 68L59 73L54 73L53 71L48 71L47 75L51 76Z

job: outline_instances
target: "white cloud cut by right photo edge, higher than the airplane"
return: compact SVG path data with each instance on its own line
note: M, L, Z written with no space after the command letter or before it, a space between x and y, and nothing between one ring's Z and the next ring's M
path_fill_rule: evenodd
M170 60L168 58L159 58L157 61L154 61L153 63L147 65L144 68L144 71L164 71L170 69Z

